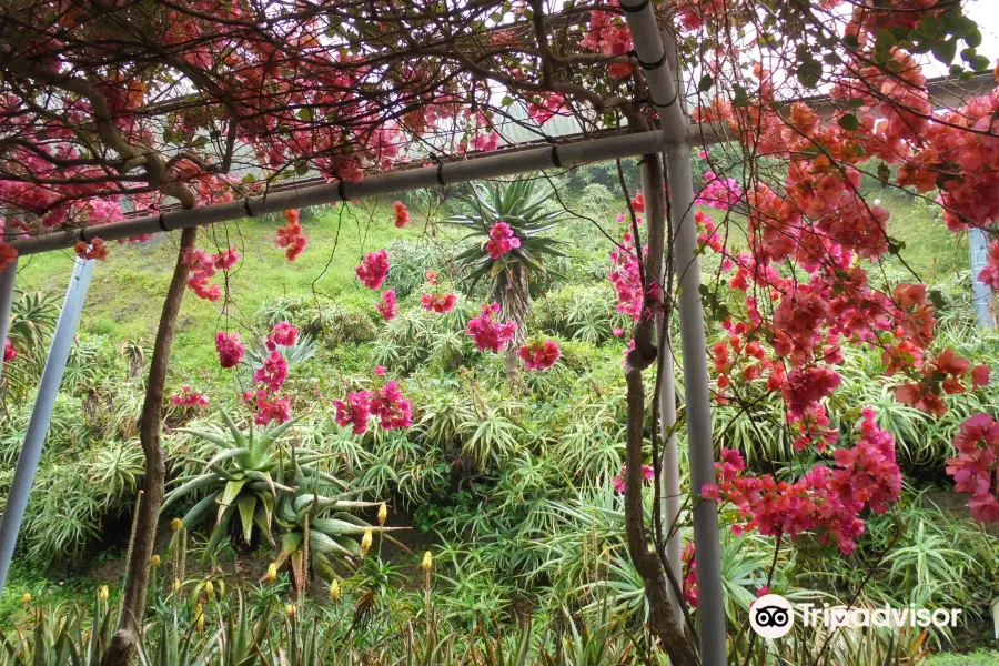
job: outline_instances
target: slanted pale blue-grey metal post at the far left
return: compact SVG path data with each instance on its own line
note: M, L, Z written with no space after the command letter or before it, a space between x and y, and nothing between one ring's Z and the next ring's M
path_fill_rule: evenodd
M65 291L65 301L62 303L62 312L59 314L59 323L56 324L56 333L52 335L52 344L49 347L49 357L46 360L46 367L42 371L41 382L39 382L38 397L34 398L34 410L31 412L31 421L28 423L24 445L18 456L18 468L7 495L3 519L0 521L0 595L7 584L7 574L10 572L18 532L24 517L24 508L28 506L28 495L34 483L34 473L38 471L38 461L49 432L49 421L52 418L56 396L62 384L62 374L65 371L65 362L69 360L77 324L80 322L80 313L83 310L87 287L90 286L90 278L93 275L94 263L94 260L77 259L77 263L73 265L73 274L70 278L69 289Z

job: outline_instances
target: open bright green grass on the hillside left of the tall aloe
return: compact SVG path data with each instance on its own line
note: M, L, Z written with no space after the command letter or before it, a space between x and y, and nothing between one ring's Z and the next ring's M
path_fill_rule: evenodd
M352 205L326 210L309 220L303 214L310 244L294 262L274 246L274 232L283 220L243 220L202 232L200 248L214 251L233 244L242 259L230 274L229 316L221 314L222 300L211 303L191 292L184 299L172 360L175 376L213 374L218 367L214 331L236 330L240 322L250 323L256 310L275 297L314 291L336 300L373 303L376 294L354 276L361 256L393 239L417 239L423 233L418 223L398 230L393 220L389 206ZM81 330L108 335L115 342L133 340L152 345L176 258L175 236L158 238L149 245L113 246L112 255L94 274ZM18 286L62 292L72 261L70 252L26 258L18 272ZM213 278L224 289L223 280L222 273Z

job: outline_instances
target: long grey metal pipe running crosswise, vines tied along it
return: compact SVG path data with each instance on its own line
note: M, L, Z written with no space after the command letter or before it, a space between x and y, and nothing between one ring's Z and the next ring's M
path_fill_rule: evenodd
M18 239L10 244L19 254L38 254L40 252L72 248L79 241L89 242L94 238L100 238L104 241L117 241L147 233L175 231L189 226L228 222L265 213L280 213L290 209L433 188L442 182L446 184L464 183L551 169L553 167L568 169L591 162L655 153L663 150L665 144L666 138L658 131L622 134L619 137L607 137L605 139L593 139L574 143L558 143L548 148L486 155L462 162L451 162L441 167L421 167L418 169L396 171L374 175L357 183L334 182L302 190L287 190L273 194L240 199L229 203L216 203L191 210L178 210L133 218L99 226L57 231L41 236Z

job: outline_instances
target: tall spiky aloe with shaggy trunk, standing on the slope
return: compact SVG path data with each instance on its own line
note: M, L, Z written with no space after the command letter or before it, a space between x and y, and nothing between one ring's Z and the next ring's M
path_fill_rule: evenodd
M455 258L464 273L462 286L471 293L483 280L490 281L490 297L501 306L506 321L516 322L515 344L506 350L506 374L516 371L516 347L527 339L527 314L531 300L539 296L544 278L552 271L545 262L565 256L558 250L561 241L544 235L558 225L565 211L548 210L554 191L537 179L521 178L493 184L473 183L472 195L465 199L470 212L444 220L468 229L464 241L477 241ZM519 246L492 256L486 251L490 231L506 222Z

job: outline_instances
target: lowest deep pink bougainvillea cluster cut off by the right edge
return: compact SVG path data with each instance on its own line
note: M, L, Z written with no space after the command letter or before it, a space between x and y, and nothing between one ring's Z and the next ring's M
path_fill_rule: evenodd
M999 422L988 414L976 414L961 424L953 438L957 456L947 458L947 473L955 490L971 493L968 507L978 521L999 521L999 500L992 480L999 484Z

